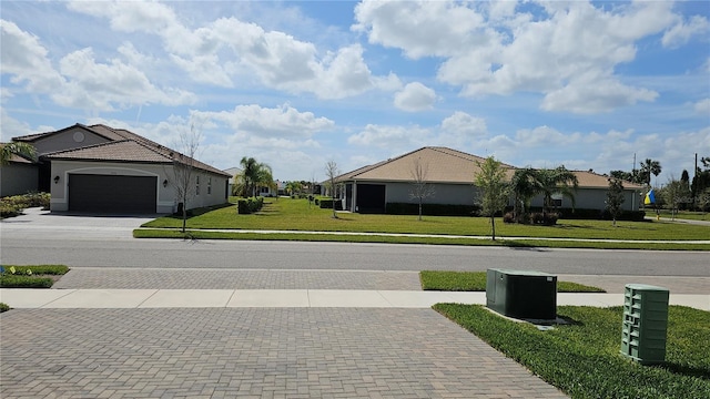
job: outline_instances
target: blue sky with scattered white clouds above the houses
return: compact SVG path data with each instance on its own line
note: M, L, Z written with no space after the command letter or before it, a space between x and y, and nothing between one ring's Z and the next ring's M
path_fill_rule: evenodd
M443 145L657 185L710 156L710 2L2 1L2 141L104 123L323 180Z

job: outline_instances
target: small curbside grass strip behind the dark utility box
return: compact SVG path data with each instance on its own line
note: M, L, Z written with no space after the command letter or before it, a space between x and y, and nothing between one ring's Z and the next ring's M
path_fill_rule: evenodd
M419 272L419 280L424 290L448 291L485 291L486 272ZM557 282L558 293L606 293L599 287L592 287L571 282Z

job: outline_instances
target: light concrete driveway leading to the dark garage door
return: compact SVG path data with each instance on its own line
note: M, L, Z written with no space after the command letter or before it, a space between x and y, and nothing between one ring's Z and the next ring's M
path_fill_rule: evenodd
M24 209L22 215L9 217L0 222L3 235L13 238L60 234L71 234L81 238L132 238L134 228L160 215L97 215L51 213L39 207Z

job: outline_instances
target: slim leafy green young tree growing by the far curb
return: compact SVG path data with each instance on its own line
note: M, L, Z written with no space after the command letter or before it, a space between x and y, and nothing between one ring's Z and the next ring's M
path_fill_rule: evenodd
M483 163L476 162L480 171L475 176L479 194L480 207L484 215L490 217L490 237L496 241L496 218L508 204L508 183L505 181L506 171L499 161L488 156Z

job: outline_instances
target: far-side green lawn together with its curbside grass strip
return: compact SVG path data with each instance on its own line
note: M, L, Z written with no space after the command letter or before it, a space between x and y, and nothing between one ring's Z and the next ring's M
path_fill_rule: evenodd
M496 234L499 237L552 237L578 239L653 239L653 241L692 241L708 239L710 226L681 225L665 222L618 222L613 227L608 221L566 221L561 219L556 226L531 226L504 224L497 219ZM179 217L165 216L149 222L143 227L176 228L181 226ZM397 234L432 234L487 236L490 234L488 218L485 217L447 217L425 216L417 221L416 216L400 215L363 215L339 213L338 218L332 217L332 211L321 209L315 205L308 206L305 200L267 198L264 208L252 215L240 215L236 206L227 206L197 214L187 219L187 228L204 229L258 229L258 231L315 231L315 232L358 232L358 233L397 233ZM175 233L140 232L136 237L180 237ZM422 239L422 238L354 238L353 236L246 236L243 234L195 234L197 238L243 238L243 239L311 239L311 241L366 241L387 243L425 243L425 244L489 244L481 241L464 239ZM438 242L437 242L438 241ZM500 245L500 243L498 243ZM629 248L648 249L710 249L710 245L682 244L643 244L643 245L599 245L595 243L539 243L539 242L508 242L510 246L556 246L556 247L591 247L591 248Z

